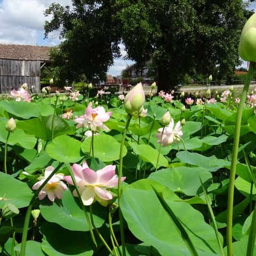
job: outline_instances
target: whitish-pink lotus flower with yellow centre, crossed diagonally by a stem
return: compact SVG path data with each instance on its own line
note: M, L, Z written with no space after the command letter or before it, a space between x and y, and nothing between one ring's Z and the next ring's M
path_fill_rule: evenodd
M32 187L32 189L38 189L46 180L47 177L53 172L54 167L48 166L45 169L44 176L38 178L38 182ZM46 185L39 191L38 198L39 200L43 200L45 196L49 198L50 201L54 201L57 197L59 199L62 198L62 191L68 190L67 185L61 181L64 178L64 174L58 173L54 174L53 177L46 183Z

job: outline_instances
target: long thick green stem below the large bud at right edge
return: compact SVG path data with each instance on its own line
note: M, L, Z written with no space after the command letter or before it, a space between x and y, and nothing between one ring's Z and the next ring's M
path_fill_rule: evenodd
M239 102L236 124L235 124L235 134L234 134L234 143L233 143L233 154L231 158L231 169L229 177L229 187L228 187L228 209L227 209L227 251L228 255L233 255L233 245L232 245L232 226L233 226L233 203L234 203L234 188L235 188L235 176L236 176L236 164L237 164L237 155L239 147L239 137L240 137L240 128L241 120L243 115L244 103L246 100L246 95L250 86L251 79L255 72L255 62L250 63L250 67L246 76L244 88L242 91L241 99Z

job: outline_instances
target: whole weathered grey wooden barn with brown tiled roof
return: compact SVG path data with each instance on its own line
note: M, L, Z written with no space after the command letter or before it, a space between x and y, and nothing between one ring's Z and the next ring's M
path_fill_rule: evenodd
M0 93L10 93L27 83L39 92L41 68L50 63L50 47L0 44Z

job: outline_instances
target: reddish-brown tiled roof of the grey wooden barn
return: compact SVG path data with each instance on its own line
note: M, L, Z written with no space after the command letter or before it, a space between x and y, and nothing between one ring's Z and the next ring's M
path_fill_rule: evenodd
M0 44L0 59L50 61L49 51L48 46Z

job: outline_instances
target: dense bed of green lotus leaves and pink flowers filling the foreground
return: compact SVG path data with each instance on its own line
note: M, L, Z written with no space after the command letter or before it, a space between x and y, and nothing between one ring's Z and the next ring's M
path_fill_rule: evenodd
M230 88L144 102L141 87L90 97L90 87L31 95L25 84L3 95L0 255L227 255L240 99ZM252 91L231 202L238 256L256 255L255 106Z

